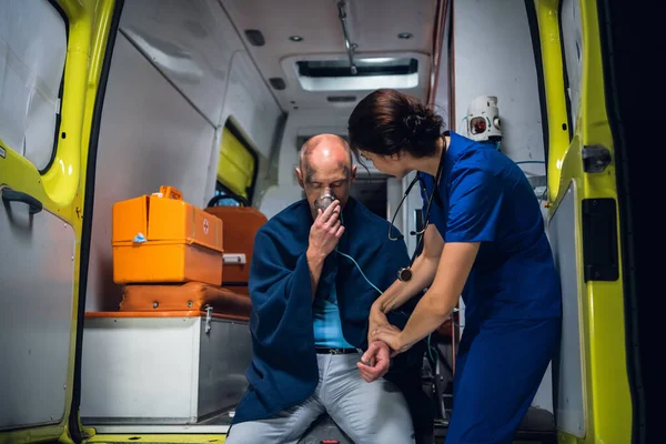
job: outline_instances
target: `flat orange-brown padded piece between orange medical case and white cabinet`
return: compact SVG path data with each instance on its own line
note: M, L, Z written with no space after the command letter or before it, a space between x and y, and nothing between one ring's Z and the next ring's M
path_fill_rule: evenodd
M248 321L252 303L248 295L202 282L174 285L125 285L121 312L205 311L222 317Z

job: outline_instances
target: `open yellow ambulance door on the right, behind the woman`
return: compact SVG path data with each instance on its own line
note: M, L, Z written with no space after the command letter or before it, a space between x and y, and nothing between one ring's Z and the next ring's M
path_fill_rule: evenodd
M548 233L563 286L554 410L561 443L630 443L632 305L620 149L609 119L603 1L527 0L538 23L547 122ZM602 11L603 12L603 11ZM536 34L537 33L537 34ZM613 111L610 109L610 111ZM635 441L634 441L635 442Z

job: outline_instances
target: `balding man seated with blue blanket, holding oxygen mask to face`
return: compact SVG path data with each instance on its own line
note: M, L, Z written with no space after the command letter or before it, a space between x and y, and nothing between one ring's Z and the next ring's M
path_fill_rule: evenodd
M350 196L356 167L342 138L310 139L296 175L306 199L254 241L250 387L226 442L296 443L327 412L356 443L414 443L410 411L427 405L425 345L390 367L389 347L366 340L372 303L408 263L405 244L389 240L389 222ZM415 303L390 321L404 325ZM427 408L413 416L433 424Z

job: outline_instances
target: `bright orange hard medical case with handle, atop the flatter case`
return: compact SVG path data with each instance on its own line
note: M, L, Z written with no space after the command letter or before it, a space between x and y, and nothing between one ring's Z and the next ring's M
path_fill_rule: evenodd
M113 281L222 283L222 221L169 186L113 205Z

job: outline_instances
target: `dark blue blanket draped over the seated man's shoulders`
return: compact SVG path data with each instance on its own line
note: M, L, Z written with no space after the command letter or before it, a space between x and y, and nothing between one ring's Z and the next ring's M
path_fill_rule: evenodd
M342 215L345 232L337 250L354 258L365 276L384 291L395 281L397 270L410 262L404 241L389 240L389 221L352 198ZM253 359L245 372L250 387L236 407L233 423L270 417L302 403L316 387L319 371L305 258L311 225L310 208L303 200L273 216L256 233L250 269ZM394 238L400 235L392 230ZM332 285L337 292L346 341L365 350L367 317L377 291L350 259L335 251L324 262L317 296L329 294ZM414 299L391 313L390 322L403 327L416 302ZM414 391L423 395L420 369L424 347L422 342L396 356L385 376L412 397L414 393L410 392Z

